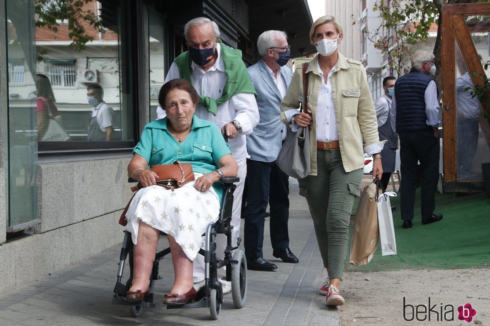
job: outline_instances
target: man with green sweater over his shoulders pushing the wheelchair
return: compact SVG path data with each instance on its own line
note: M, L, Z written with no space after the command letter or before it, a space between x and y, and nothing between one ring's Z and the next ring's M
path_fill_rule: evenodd
M246 176L246 141L258 122L255 90L250 82L241 51L232 49L219 39L219 28L214 21L198 17L184 26L184 36L189 50L177 56L170 66L165 82L174 78L189 81L199 94L199 103L195 115L201 119L213 121L228 137L231 155L238 164L238 177L233 193L231 213L232 245L236 246L240 234L240 211L243 185ZM161 108L156 110L158 118L165 116ZM218 258L223 258L226 238L216 237ZM219 269L223 273L224 269ZM224 274L222 275L224 276ZM194 260L193 281L198 291L203 286L204 260L197 255ZM223 294L231 291L231 285L223 284Z

